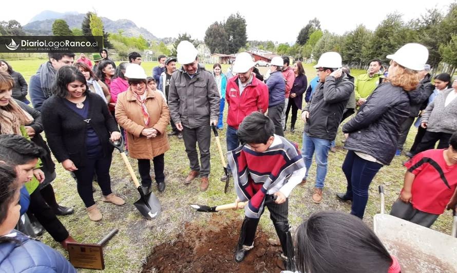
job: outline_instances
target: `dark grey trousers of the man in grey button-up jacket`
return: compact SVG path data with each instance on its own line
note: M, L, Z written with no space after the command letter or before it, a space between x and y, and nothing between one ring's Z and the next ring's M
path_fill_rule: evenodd
M208 177L210 175L210 124L198 128L187 128L183 126L182 139L184 140L191 170L200 172L200 177ZM198 161L197 142L198 149L200 150L201 166Z

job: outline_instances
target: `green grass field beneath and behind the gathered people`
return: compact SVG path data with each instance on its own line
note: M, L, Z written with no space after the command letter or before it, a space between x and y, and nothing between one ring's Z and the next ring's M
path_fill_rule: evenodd
M11 61L10 64L14 70L21 72L26 80L36 72L39 65L45 60L21 60ZM142 67L148 75L157 62L143 62ZM223 66L223 71L226 70ZM208 70L212 65L206 65ZM308 78L313 78L316 74L311 65L306 66ZM352 71L352 74L358 75L364 71ZM225 109L226 114L226 109ZM288 123L290 128L290 119ZM299 143L301 148L303 122L297 120L296 131L291 133L287 131L285 136L292 141ZM415 135L415 128L411 129L405 148L408 149ZM220 133L223 150L225 145L225 129ZM323 191L323 201L321 204L311 202L313 182L315 177L315 168L313 164L308 183L304 186L297 186L290 196L290 215L289 219L293 230L300 222L307 219L310 214L323 210L334 209L343 212L350 212L350 203L339 202L335 194L344 192L346 189L346 179L341 171L341 164L345 158L346 151L341 148L342 133L338 133L336 143L337 152L330 153L328 174L326 186ZM69 230L70 234L78 241L85 243L95 243L100 240L112 228L119 228L116 235L104 248L105 253L105 272L138 272L141 270L146 257L150 254L155 245L173 241L179 234L185 222L194 222L201 224L203 230L206 226L209 214L196 213L189 208L188 203L200 203L217 205L222 203L233 202L236 198L233 192L233 186L230 187L229 193L223 193L224 183L219 178L223 174L216 150L216 143L212 140L211 145L211 176L210 187L206 192L199 191L199 182L195 181L190 185L184 185L183 180L186 177L189 167L188 159L184 151L184 143L176 137L169 137L170 150L165 153L165 182L166 190L164 193L158 193L157 188L153 188L154 193L162 202L162 215L154 221L146 221L137 211L133 203L139 198L138 192L130 181L126 167L117 151L114 152L111 165L111 181L113 192L125 199L126 204L117 207L112 204L101 202L101 192L96 186L97 192L94 198L98 201L99 208L103 215L100 222L92 222L88 219L85 207L77 194L76 184L60 164L56 165L58 177L53 182L56 196L60 204L71 206L75 213L70 216L60 217L61 221ZM377 185L384 184L386 192L386 209L390 210L391 204L397 198L399 190L403 185L403 176L405 168L402 162L407 158L405 156L395 157L391 165L384 166L374 178L370 187L370 198L368 201L364 221L372 226L372 217L379 212L379 197ZM130 159L134 170L137 170L137 163ZM137 174L138 176L138 174ZM261 218L261 227L272 238L276 238L274 227L269 220L268 212ZM236 214L235 214L236 215ZM238 219L241 221L243 211L238 211ZM432 228L440 232L449 234L451 229L451 214L446 212L433 225ZM66 255L60 244L54 242L46 233L40 238L46 244L58 249ZM177 249L179 251L179 249ZM231 253L233 249L227 249ZM79 269L80 272L91 272L91 270Z

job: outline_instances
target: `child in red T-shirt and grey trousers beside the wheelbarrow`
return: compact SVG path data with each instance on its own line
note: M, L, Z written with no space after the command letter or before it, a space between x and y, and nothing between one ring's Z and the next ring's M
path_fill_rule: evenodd
M430 227L457 204L457 132L447 149L432 149L415 155L405 163L408 171L399 198L390 215Z

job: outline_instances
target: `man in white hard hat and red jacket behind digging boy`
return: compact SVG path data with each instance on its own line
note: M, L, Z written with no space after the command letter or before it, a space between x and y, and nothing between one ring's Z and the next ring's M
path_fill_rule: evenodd
M237 135L238 126L243 119L252 112L265 113L268 109L268 88L253 73L255 62L247 52L241 52L235 59L232 77L227 81L225 102L229 106L227 114L227 151L236 149L240 145ZM229 174L230 174L230 167ZM224 175L221 181L225 181Z

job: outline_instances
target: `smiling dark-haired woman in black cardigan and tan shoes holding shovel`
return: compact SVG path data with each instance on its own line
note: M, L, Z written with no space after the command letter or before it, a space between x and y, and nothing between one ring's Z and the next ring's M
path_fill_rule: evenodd
M55 158L77 178L78 194L89 219L100 221L102 214L92 193L94 173L103 202L125 203L112 193L109 177L113 146L108 139L119 140L121 133L105 101L86 90L86 78L77 68L64 66L59 69L54 95L43 104L43 126Z

